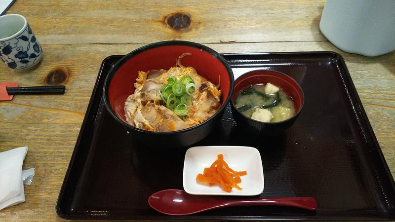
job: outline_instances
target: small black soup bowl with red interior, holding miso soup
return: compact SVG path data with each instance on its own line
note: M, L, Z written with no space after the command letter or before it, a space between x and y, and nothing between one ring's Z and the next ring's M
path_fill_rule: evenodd
M250 85L258 85L268 82L280 87L287 95L292 97L295 106L295 114L291 118L279 122L261 122L243 115L235 107L235 99L237 95L245 88ZM299 84L290 76L271 70L255 70L242 74L235 81L235 89L231 99L232 114L237 122L237 127L255 135L262 136L278 135L285 131L294 123L302 110L303 104L304 94Z

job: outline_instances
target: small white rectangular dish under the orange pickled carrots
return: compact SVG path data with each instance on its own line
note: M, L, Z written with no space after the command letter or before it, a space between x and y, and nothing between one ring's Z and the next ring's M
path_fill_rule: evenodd
M208 186L198 184L197 174L203 174L205 167L210 167L217 159L217 155L222 153L225 162L235 171L247 171L247 175L241 176L242 188L233 188L231 192L226 192L218 185ZM264 178L262 159L258 149L253 147L239 146L204 146L192 147L185 153L184 190L195 195L231 195L231 196L254 196L263 192Z

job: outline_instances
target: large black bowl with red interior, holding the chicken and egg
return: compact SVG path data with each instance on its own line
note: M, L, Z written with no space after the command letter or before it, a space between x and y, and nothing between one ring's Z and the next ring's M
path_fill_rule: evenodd
M195 68L197 74L214 84L220 83L221 108L206 121L184 130L152 132L129 125L124 115L124 103L126 98L134 93L138 72L168 70L174 67L176 59L186 52L192 55L185 56L181 61L182 65ZM106 77L103 95L107 110L133 134L133 138L151 147L180 148L200 141L215 129L231 98L233 86L231 67L213 49L189 41L162 41L143 46L122 57Z

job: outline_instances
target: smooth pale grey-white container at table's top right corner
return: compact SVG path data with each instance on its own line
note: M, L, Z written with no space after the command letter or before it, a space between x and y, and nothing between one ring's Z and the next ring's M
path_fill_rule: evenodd
M343 51L389 53L395 50L395 0L327 0L319 28Z

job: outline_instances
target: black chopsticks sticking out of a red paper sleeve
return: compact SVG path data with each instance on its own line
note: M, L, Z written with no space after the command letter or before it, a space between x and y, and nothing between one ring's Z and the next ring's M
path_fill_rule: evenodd
M30 87L7 87L8 95L54 95L64 94L64 85L30 86Z

